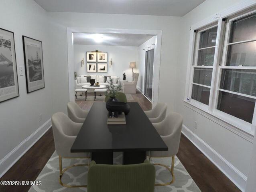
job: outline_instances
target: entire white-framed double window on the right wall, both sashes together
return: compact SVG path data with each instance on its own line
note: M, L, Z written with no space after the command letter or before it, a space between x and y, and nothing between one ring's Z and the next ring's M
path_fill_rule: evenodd
M256 122L256 10L193 30L186 97L225 121L251 126Z

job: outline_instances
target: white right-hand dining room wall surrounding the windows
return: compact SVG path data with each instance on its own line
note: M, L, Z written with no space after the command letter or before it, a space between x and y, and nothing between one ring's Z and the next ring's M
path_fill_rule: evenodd
M209 120L209 118L185 107L182 101L185 94L190 26L226 8L230 8L238 2L242 2L242 0L206 0L181 19L179 51L177 52L177 79L175 81L175 110L183 115L184 125L193 134L203 140L230 163L230 168L228 168L228 166L226 166L226 168L223 168L223 166L220 167L226 172L230 170L228 174L231 179L236 182L236 184L240 185L241 189L244 189L245 180L242 177L244 176L246 179L248 174L252 143L212 120ZM198 122L197 129L194 128L195 121ZM195 137L191 138L196 142ZM234 169L234 172L232 172L232 169Z

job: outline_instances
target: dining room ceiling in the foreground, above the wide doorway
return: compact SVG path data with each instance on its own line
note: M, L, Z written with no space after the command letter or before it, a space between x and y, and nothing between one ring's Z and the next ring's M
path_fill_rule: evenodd
M205 0L34 0L48 12L184 16Z

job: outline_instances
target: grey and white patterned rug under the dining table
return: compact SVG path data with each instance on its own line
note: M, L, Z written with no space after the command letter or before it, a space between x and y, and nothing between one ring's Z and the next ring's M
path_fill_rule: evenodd
M73 164L87 164L86 159L63 159L63 169ZM114 153L114 164L121 164L122 153ZM151 158L151 162L171 165L171 158ZM200 192L199 188L188 174L187 170L175 156L174 175L175 181L168 186L155 186L155 192ZM170 172L161 166L156 168L156 183L165 183L171 180ZM67 170L62 177L63 183L69 185L85 185L87 181L87 166L73 167ZM86 188L66 188L59 184L59 156L56 151L53 153L39 176L41 186L31 186L28 192L86 192Z

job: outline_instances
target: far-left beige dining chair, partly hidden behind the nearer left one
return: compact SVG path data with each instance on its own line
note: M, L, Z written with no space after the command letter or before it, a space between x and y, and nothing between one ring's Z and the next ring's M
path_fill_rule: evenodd
M69 102L67 104L67 114L73 122L83 123L88 111L82 110L75 102Z

